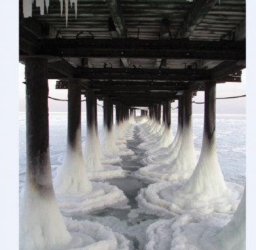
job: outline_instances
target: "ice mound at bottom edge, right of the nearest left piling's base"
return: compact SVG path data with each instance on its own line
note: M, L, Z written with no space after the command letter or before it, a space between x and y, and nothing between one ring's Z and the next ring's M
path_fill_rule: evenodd
M107 226L92 221L64 218L72 241L66 249L76 250L132 250L131 241ZM57 250L57 249L56 249ZM63 249L61 249L63 250Z

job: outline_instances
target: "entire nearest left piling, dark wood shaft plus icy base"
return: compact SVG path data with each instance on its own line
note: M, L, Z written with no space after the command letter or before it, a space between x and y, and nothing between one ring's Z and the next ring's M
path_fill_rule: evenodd
M71 240L52 187L47 59L26 59L26 183L20 202L20 249L64 249ZM47 223L45 223L47 222ZM39 233L35 228L40 228Z

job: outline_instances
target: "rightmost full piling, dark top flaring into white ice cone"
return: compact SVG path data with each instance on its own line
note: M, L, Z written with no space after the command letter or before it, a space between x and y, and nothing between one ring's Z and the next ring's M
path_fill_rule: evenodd
M227 192L227 186L218 163L215 143L216 82L205 82L204 134L198 163L184 191L191 196L200 192L202 199L213 199ZM204 178L202 178L202 176Z

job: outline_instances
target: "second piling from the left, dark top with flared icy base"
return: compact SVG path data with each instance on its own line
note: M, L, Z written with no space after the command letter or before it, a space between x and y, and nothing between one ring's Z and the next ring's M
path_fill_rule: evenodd
M56 194L92 191L85 166L81 139L81 82L69 79L67 149L63 164L54 179Z

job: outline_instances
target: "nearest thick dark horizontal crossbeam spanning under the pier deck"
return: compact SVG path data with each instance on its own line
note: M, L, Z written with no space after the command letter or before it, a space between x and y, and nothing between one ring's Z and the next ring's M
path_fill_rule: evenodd
M242 60L244 41L138 40L138 39L44 39L38 40L45 56L64 58L173 58Z

